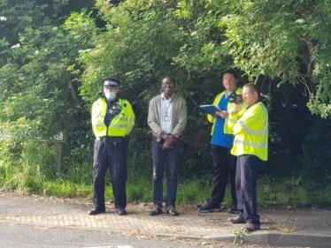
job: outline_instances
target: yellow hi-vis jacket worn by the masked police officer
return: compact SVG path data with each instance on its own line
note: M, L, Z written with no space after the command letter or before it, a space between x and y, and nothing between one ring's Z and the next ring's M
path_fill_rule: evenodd
M124 99L119 99L121 111L112 119L109 126L104 124L104 117L107 111L107 102L104 98L99 98L93 103L92 107L92 128L93 132L98 137L125 137L135 125L135 113L132 110L131 104Z

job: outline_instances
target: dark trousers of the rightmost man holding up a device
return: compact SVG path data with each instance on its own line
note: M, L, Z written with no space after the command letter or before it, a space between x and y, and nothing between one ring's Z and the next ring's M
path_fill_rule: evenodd
M258 167L262 161L255 155L240 155L237 158L235 189L239 217L248 223L259 225L258 215Z

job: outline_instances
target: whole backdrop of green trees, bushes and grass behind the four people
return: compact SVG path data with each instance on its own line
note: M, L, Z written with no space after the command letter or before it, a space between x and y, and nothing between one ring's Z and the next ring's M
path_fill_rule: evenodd
M212 103L224 90L222 72L235 68L239 86L254 80L261 87L269 110L270 160L261 174L294 178L295 191L266 187L259 202L327 204L319 189L331 177L329 1L2 0L0 7L0 135L11 135L1 139L1 187L90 197L89 109L102 94L101 79L112 76L121 79L119 94L136 116L128 195L149 199L148 102L170 75L189 109L179 201L204 201L211 124L198 105ZM68 136L56 179L54 144L28 140L59 129Z

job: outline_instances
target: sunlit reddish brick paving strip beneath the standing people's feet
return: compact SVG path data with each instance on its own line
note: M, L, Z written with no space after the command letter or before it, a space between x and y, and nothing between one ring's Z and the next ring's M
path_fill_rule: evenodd
M130 211L129 208L127 212L127 215L120 216L113 209L104 214L89 215L88 211L66 209L63 214L10 214L3 216L3 220L32 225L98 228L112 231L136 229L142 233L195 237L215 233L231 234L238 229L238 226L227 223L227 218L232 216L227 213L199 214L196 211L188 211L173 217L169 214L150 216L148 211L135 212Z

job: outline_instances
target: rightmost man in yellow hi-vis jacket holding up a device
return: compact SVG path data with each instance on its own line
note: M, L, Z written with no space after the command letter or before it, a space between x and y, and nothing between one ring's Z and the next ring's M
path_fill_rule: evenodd
M254 83L243 86L242 103L228 116L228 126L235 134L231 154L237 156L235 190L239 214L229 222L246 223L243 229L260 229L257 201L258 167L268 155L268 112L259 101L260 92Z

